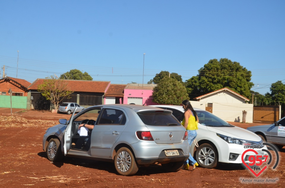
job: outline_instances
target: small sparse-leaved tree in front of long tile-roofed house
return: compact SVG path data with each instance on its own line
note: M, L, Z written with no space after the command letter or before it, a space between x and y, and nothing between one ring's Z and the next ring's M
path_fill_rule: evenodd
M46 77L42 84L38 85L38 91L54 105L55 109L62 99L73 91L67 90L67 81L56 79L54 76Z

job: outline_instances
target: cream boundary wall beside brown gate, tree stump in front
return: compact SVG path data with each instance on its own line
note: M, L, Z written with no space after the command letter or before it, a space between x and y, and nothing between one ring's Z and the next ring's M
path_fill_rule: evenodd
M225 121L242 122L246 110L246 123L253 122L253 104L213 102L213 114Z

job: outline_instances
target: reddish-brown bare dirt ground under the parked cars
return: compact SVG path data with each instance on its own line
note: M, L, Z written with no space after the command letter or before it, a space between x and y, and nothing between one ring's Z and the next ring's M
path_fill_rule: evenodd
M23 109L24 110L24 109ZM160 165L142 167L134 176L120 176L113 163L65 158L52 163L42 150L42 136L59 118L70 115L50 111L0 109L0 187L284 187L285 149L277 168L268 166L258 177L240 165L220 164L214 169L166 173ZM18 110L19 111L19 110ZM234 123L246 128L252 123ZM270 151L273 159L274 152ZM275 161L276 162L276 161ZM275 163L274 163L275 164ZM264 182L253 182L253 181ZM246 181L246 182L243 182ZM252 181L249 183L248 181ZM275 182L266 182L275 181Z

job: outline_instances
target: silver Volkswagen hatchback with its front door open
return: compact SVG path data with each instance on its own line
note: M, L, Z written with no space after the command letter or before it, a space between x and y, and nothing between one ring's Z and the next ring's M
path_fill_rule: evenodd
M179 171L189 157L187 131L172 111L142 105L98 105L89 107L69 121L60 119L43 137L43 150L51 161L64 155L109 161L120 175L132 176L140 166L162 165ZM94 125L83 138L82 123ZM88 144L89 142L89 144Z

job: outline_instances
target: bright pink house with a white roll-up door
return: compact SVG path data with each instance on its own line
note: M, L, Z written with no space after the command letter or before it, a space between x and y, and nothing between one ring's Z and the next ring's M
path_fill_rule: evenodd
M124 104L156 105L152 102L152 92L156 84L128 83L124 89Z

